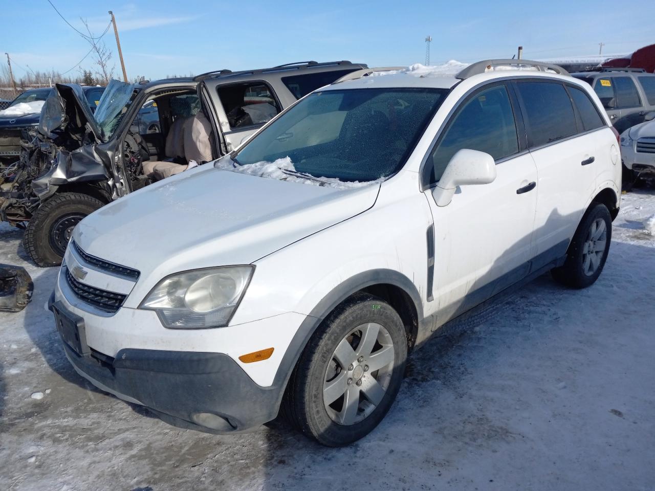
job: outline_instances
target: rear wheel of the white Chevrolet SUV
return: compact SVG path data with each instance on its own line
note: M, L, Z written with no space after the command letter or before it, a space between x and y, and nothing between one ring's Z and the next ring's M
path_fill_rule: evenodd
M607 206L592 204L573 236L566 262L551 270L553 278L572 288L593 285L603 271L611 240L612 217Z

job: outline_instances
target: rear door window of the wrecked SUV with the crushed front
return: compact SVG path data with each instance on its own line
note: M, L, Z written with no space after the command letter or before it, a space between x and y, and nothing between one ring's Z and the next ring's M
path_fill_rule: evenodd
M216 90L233 130L264 124L280 112L269 86L261 82L219 86Z

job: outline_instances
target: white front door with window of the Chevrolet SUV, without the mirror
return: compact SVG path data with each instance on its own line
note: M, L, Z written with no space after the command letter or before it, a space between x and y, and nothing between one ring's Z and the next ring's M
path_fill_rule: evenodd
M489 153L496 179L461 186L447 206L425 194L434 218L432 305L443 323L520 280L529 270L536 209L536 167L519 143L508 87L487 85L469 96L446 122L426 166L430 185L438 183L460 149ZM429 294L430 292L428 292Z

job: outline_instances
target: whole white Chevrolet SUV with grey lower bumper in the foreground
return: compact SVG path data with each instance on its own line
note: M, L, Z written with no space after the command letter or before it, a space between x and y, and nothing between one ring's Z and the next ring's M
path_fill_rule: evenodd
M346 76L86 217L51 300L75 369L177 426L238 431L282 407L346 445L447 321L548 270L591 285L617 135L588 84L516 63Z

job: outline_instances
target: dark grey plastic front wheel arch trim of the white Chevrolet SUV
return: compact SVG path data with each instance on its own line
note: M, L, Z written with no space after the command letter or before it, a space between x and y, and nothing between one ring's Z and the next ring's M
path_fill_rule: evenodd
M280 389L276 411L280 407L291 373L298 363L301 353L327 317L337 306L356 293L369 293L388 302L403 321L407 331L407 350L416 342L419 321L423 317L421 295L407 276L395 270L375 269L365 271L345 280L323 297L300 325L282 357L272 386Z

